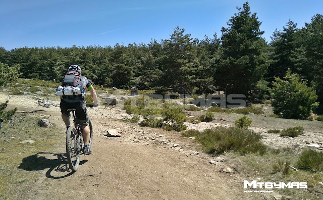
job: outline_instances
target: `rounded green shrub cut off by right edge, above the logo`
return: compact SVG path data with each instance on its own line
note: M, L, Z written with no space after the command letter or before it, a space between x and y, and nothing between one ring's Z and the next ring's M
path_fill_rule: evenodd
M323 172L323 153L313 149L304 149L296 166L302 170Z

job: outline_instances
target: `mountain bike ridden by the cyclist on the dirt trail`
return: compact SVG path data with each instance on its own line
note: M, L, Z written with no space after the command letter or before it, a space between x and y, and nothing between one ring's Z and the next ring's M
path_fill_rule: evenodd
M93 104L87 104L86 106L93 107ZM82 125L75 121L76 109L68 109L67 111L72 112L74 126L70 126L66 131L66 154L70 169L75 172L80 164L81 152L84 153ZM88 126L90 129L89 147L91 147L93 141L93 128L90 119Z

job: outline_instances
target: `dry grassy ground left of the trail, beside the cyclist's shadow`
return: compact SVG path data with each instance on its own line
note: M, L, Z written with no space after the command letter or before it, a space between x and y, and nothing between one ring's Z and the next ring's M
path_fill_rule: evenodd
M37 126L38 120L29 115L15 114L12 123L3 123L0 133L0 199L17 199L17 196L23 199L39 177L35 169L42 166L37 160L23 164L23 159L36 158L39 152L50 153L60 141L62 134L55 125L42 128ZM20 143L26 139L35 142Z

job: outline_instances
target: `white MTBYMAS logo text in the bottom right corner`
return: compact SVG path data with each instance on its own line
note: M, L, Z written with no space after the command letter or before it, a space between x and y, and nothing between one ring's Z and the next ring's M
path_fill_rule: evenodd
M307 188L307 182L257 182L256 180L249 181L244 180L243 181L243 187L245 189L249 188L264 188L264 189L284 189L284 188L297 188L297 189L306 189Z

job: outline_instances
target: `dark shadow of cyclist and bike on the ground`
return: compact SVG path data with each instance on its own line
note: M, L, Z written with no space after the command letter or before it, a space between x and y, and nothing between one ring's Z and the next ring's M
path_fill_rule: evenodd
M49 158L42 156L44 154ZM86 162L87 160L82 160L80 161L80 165ZM49 168L46 172L46 177L53 179L65 178L74 173L69 169L65 154L52 154L44 152L39 152L35 155L24 158L18 168L27 171L41 171Z

